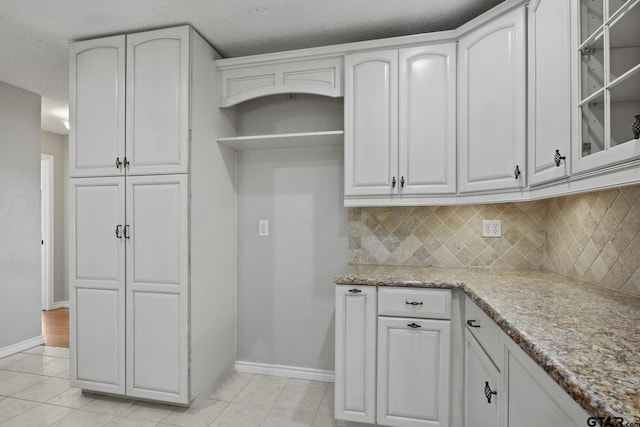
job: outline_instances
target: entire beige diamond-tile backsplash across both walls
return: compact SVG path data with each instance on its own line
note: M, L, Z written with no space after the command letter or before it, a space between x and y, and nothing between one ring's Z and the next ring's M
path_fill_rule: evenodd
M482 220L502 238L482 237ZM640 185L489 205L349 209L352 264L546 269L640 296Z

